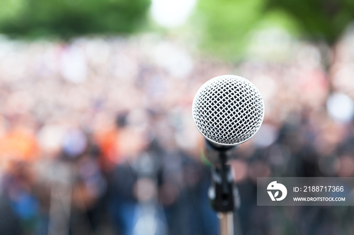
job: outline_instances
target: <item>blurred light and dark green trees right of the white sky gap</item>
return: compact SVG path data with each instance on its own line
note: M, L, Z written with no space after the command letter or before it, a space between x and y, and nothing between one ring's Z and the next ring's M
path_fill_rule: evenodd
M242 58L254 29L278 27L332 45L354 18L352 0L202 0L198 13L204 48Z

